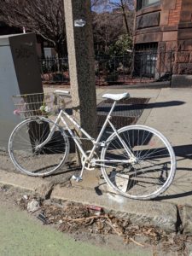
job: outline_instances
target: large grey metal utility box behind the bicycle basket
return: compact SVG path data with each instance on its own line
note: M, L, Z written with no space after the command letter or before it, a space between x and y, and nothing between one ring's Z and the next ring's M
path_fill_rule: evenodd
M36 44L33 33L0 36L0 149L20 122L11 97L43 92Z

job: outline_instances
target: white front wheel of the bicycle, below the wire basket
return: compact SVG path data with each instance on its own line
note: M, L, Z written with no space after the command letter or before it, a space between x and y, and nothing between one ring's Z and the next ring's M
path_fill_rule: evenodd
M54 132L42 147L50 131ZM9 138L9 155L15 167L31 176L55 172L67 159L68 137L59 125L43 117L26 119L15 127Z

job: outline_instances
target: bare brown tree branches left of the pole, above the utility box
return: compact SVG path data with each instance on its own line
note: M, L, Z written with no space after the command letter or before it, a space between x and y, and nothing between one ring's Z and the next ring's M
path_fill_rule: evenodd
M57 52L66 41L63 0L1 0L0 16L9 26L36 32Z

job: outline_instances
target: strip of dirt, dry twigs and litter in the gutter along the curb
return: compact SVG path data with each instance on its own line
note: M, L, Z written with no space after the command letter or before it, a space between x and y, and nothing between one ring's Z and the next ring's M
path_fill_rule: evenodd
M166 255L185 255L184 253L189 253L189 246L192 244L191 236L167 234L152 226L134 225L127 219L115 218L101 207L67 201L44 201L38 195L27 191L0 186L0 201L6 201L9 207L26 211L32 200L38 201L40 207L32 213L37 221L39 219L42 224L70 234L77 241L89 240L96 246L111 247L119 252L125 251L131 245L143 249L153 247L154 251Z

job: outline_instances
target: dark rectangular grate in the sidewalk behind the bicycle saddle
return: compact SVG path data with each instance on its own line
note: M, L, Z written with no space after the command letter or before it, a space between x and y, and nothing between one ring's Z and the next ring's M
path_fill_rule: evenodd
M149 98L129 98L117 102L112 114L113 125L119 129L126 125L136 124L148 101ZM97 125L99 129L102 128L112 104L113 101L106 100L97 105Z

